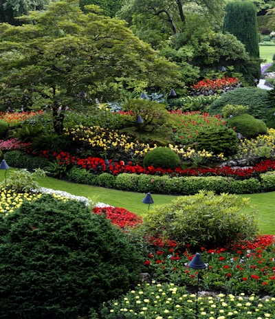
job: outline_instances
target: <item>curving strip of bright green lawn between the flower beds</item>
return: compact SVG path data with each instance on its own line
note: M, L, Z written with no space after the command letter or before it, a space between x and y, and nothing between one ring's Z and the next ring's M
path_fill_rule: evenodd
M8 178L8 171L7 171ZM0 182L4 180L4 171L0 170ZM54 190L63 190L72 195L84 196L94 201L108 203L111 206L125 208L130 212L144 216L148 209L153 206L170 203L172 199L177 198L175 195L151 194L155 203L148 205L142 203L146 194L140 192L126 192L109 188L101 188L84 184L61 181L52 177L43 177L39 180L39 185L52 188ZM254 206L259 215L259 228L262 234L275 234L275 192L264 192L259 194L240 195L241 197L250 197L251 206Z

